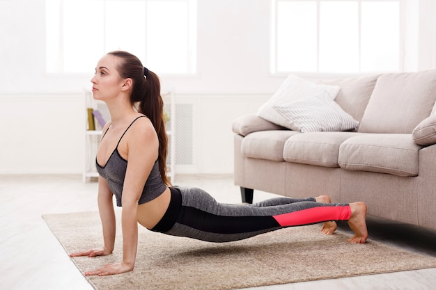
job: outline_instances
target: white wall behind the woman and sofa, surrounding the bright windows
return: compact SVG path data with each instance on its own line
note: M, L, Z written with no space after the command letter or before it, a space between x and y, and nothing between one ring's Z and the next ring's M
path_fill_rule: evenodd
M405 69L434 68L435 3L405 3ZM0 1L0 174L81 173L84 167L83 91L91 74L45 74L44 5ZM231 123L255 112L283 81L268 72L269 9L268 0L198 0L198 74L161 76L163 86L176 88L177 102L196 108L195 162L181 170L233 172Z

